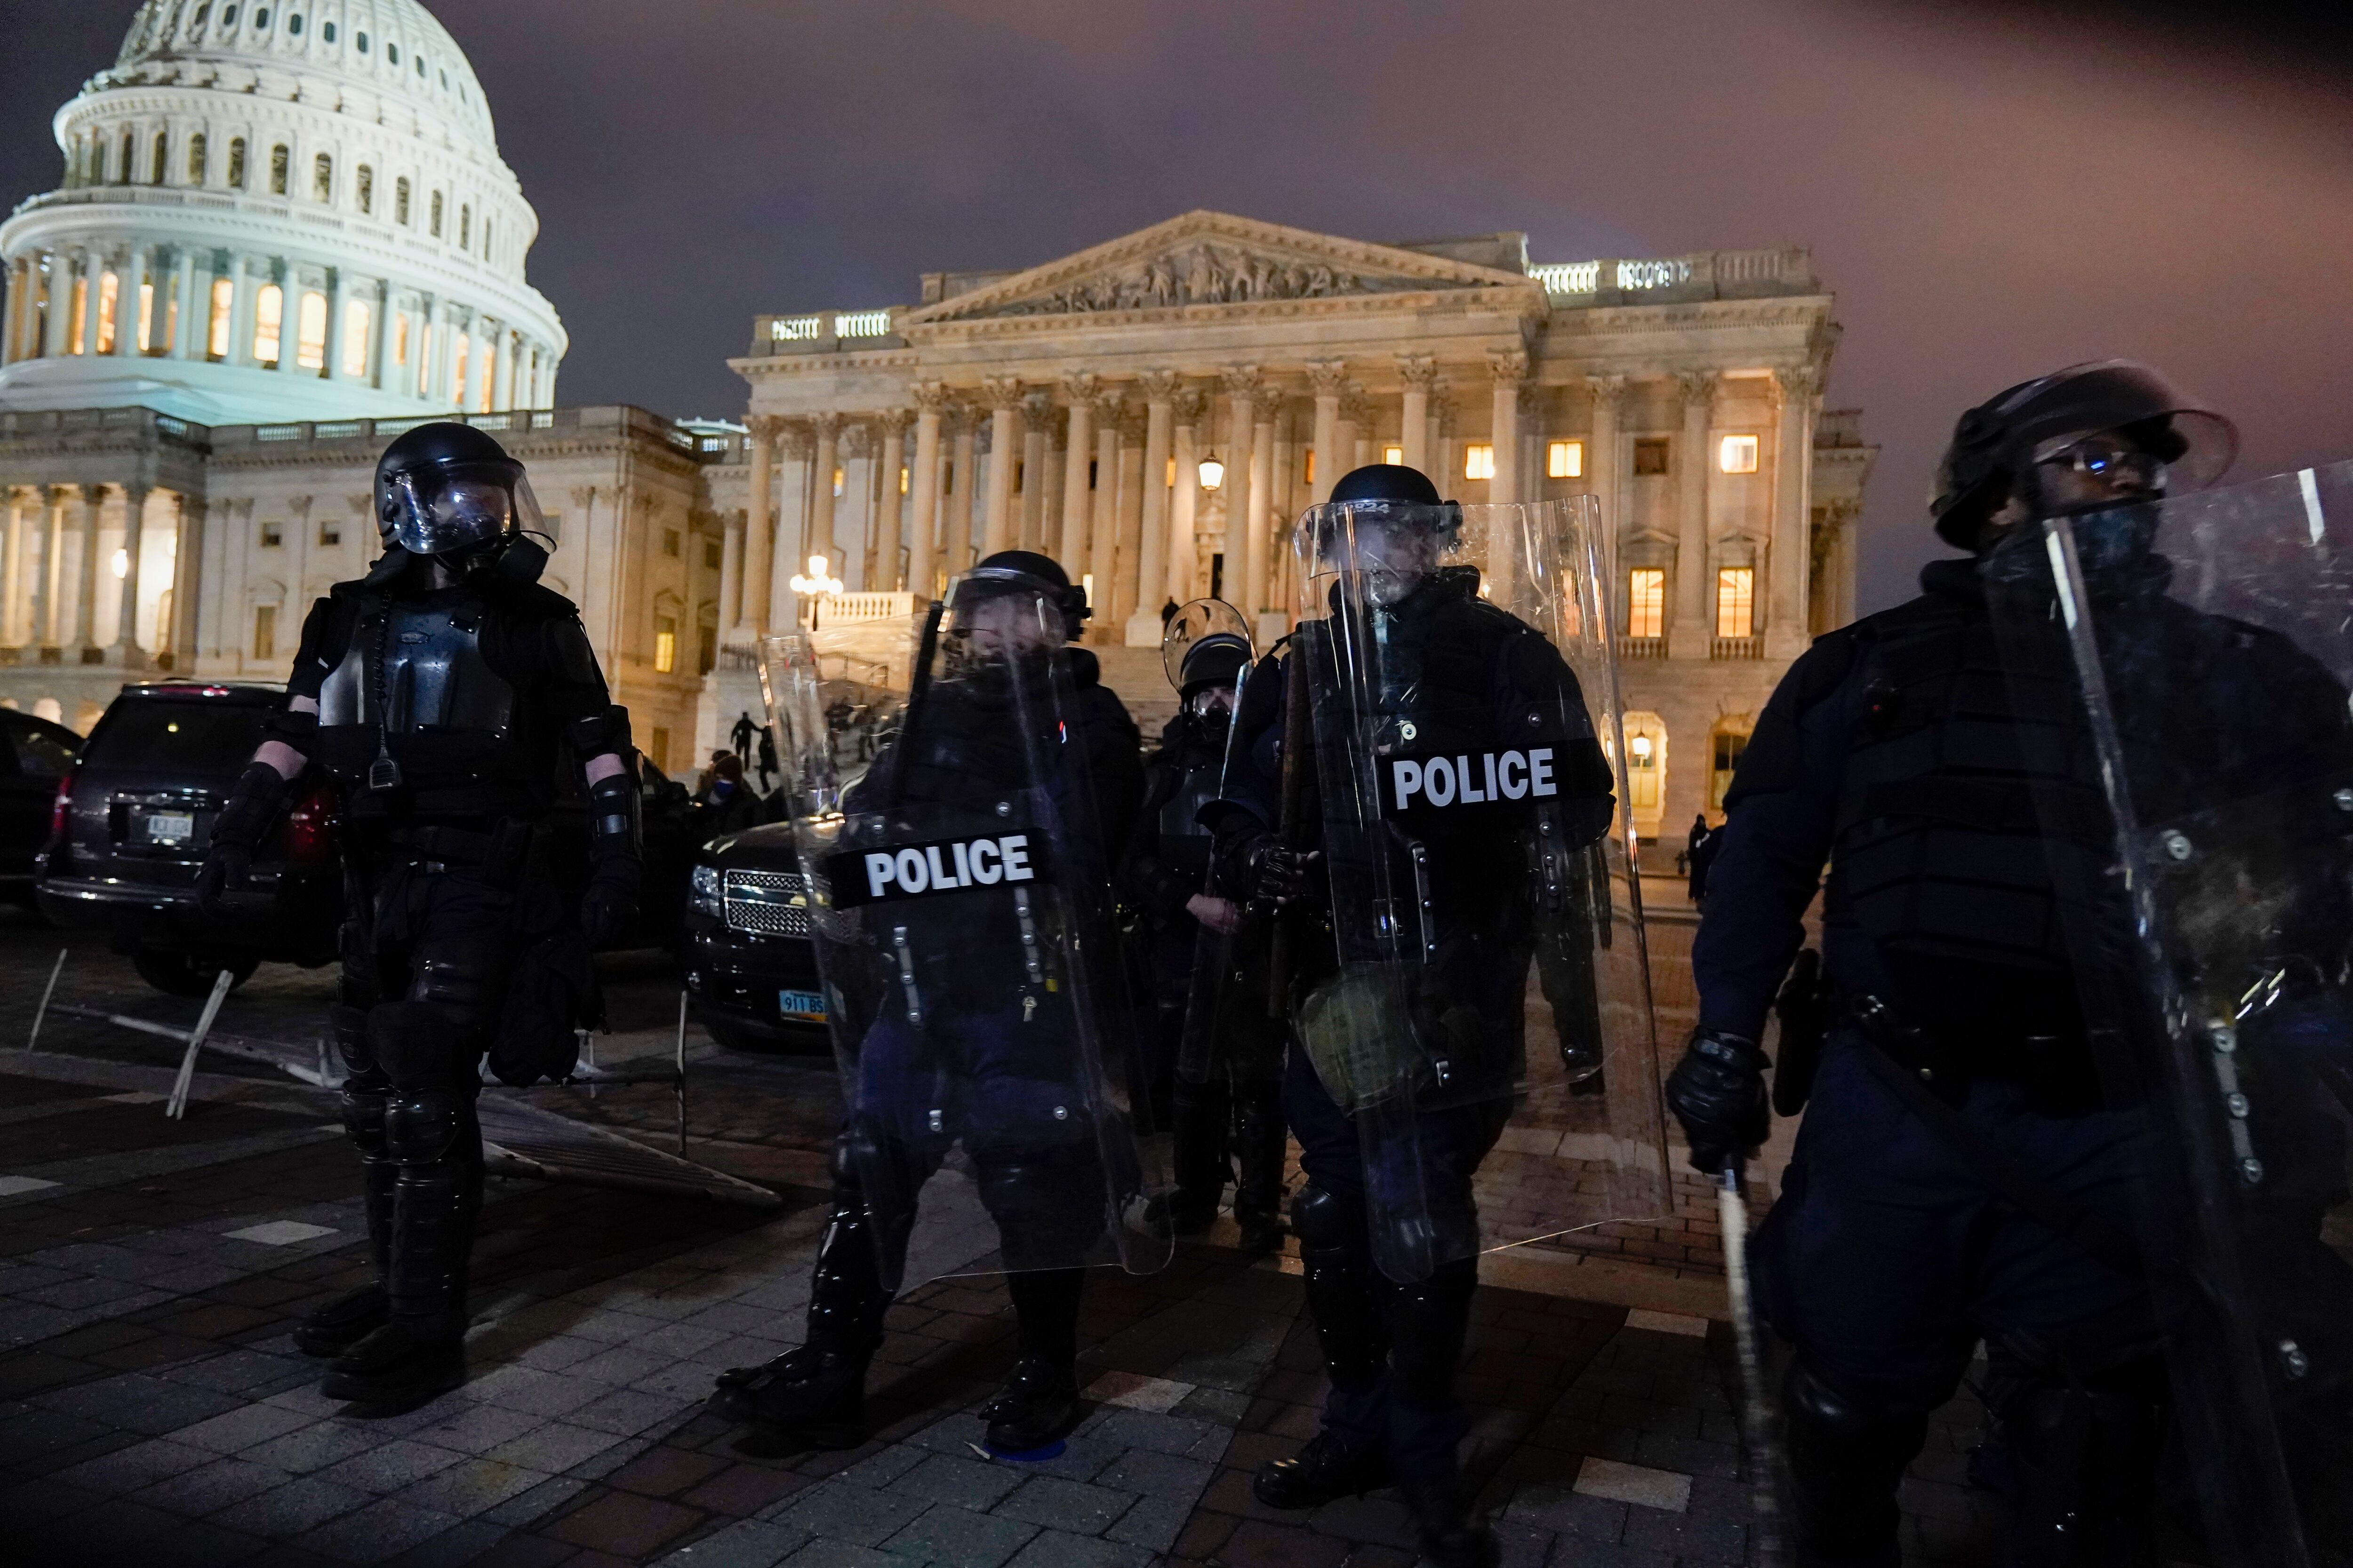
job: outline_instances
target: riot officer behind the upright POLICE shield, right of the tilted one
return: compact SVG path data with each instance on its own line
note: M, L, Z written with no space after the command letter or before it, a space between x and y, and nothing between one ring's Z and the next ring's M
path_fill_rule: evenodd
M1464 512L1426 475L1358 468L1301 527L1308 599L1327 599L1301 609L1327 609L1329 621L1304 621L1287 651L1252 672L1233 776L1212 816L1226 886L1292 922L1282 1107L1306 1173L1292 1232L1332 1380L1322 1429L1259 1469L1254 1490L1294 1509L1393 1481L1433 1561L1492 1563L1494 1537L1459 1495L1457 1455L1454 1373L1478 1284L1471 1180L1525 1070L1522 1004L1541 924L1529 865L1600 839L1609 766L1555 646L1489 604L1475 567L1447 564ZM1351 731L1339 722L1348 712L1381 733ZM1407 752L1428 757L1433 771L1421 776L1433 790L1445 769L1442 797L1424 792L1412 806L1332 797L1351 788L1344 755L1391 741L1402 743L1393 766L1419 773ZM1513 778L1513 757L1539 755L1541 802L1489 802L1499 816L1454 811L1457 778L1480 799L1480 757L1494 785ZM1461 773L1457 757L1471 759ZM1511 792L1527 799L1527 778ZM1398 893L1381 898L1374 886ZM1400 931L1412 931L1409 976L1360 961L1362 933ZM1374 1072L1402 1063L1417 1086L1351 1093L1344 1107L1337 1091L1367 1058ZM1384 1140L1367 1117L1374 1105L1391 1114L1400 1098L1419 1100L1412 1131Z

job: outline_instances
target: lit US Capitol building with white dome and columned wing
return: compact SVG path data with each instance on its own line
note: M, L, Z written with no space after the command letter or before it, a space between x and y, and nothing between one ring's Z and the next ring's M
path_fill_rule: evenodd
M555 402L536 219L416 0L148 0L56 141L61 188L0 226L0 701L85 729L129 672L282 679L431 416L532 465L548 583L678 773L758 710L760 630L906 614L1007 545L1087 581L1106 677L1167 712L1160 609L1280 632L1292 520L1374 461L1600 496L1647 837L1854 614L1875 447L1819 407L1802 249L1537 263L1191 212L762 315L746 416L668 421Z

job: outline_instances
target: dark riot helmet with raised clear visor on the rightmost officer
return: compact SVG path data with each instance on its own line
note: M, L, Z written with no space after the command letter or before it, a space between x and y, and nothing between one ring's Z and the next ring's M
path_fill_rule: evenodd
M2132 360L2092 360L2021 381L1969 409L1937 465L1929 517L1937 536L1977 550L1986 522L2012 498L2042 517L2118 505L2113 491L2075 501L2054 475L2127 473L2148 496L2205 489L2238 456L2238 428ZM2082 487L2092 489L2092 487Z

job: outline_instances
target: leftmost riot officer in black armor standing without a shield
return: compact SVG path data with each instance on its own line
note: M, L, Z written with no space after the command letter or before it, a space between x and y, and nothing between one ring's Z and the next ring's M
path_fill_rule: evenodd
M198 886L235 893L306 769L341 788L332 1027L376 1279L294 1342L334 1356L327 1396L402 1403L466 1378L482 1056L515 1084L569 1072L588 947L635 919L642 830L628 712L539 585L522 463L471 425L416 425L374 505L384 555L313 604ZM562 795L586 797L586 844L553 830Z

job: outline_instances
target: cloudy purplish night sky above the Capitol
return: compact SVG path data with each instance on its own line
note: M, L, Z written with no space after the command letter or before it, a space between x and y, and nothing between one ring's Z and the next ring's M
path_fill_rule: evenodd
M132 0L0 0L0 197ZM741 414L762 310L911 301L1217 207L1539 261L1809 244L1885 444L1864 607L1937 550L1953 416L2146 357L2240 475L2329 461L2353 364L2348 24L1892 0L438 0L541 219L562 402ZM2339 12L2344 7L2337 7Z

